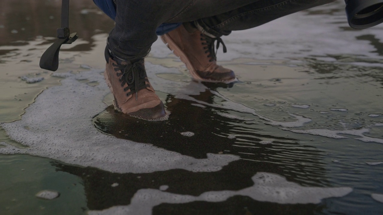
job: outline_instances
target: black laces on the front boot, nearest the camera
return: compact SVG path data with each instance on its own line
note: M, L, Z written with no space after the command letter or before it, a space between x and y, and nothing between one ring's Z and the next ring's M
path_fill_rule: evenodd
M137 93L138 91L149 87L149 84L146 84L147 75L145 71L144 65L138 62L134 62L133 64L113 64L113 67L115 67L115 72L121 71L117 73L117 77L121 78L119 79L121 83L121 87L124 87L125 83L128 83L128 86L124 88L124 92L126 93L126 96L130 96L133 93L136 93L136 101L137 101Z

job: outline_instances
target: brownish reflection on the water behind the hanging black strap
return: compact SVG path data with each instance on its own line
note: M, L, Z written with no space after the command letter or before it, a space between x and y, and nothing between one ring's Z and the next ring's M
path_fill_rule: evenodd
M0 1L0 46L15 41L28 41L36 36L56 37L60 27L61 1L2 0ZM107 33L114 21L103 14L92 1L70 1L69 28L92 44L96 33ZM79 21L81 20L81 21ZM90 50L90 47L77 47ZM1 55L1 53L0 53Z

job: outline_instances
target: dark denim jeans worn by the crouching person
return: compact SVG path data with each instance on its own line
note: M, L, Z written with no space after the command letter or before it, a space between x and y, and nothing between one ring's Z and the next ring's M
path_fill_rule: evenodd
M115 0L116 26L108 44L123 60L145 57L162 23L195 21L214 36L260 26L335 0Z

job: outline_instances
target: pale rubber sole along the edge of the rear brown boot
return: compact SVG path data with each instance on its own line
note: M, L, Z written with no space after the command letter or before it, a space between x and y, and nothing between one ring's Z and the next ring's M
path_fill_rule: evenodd
M167 36L167 34L161 35L161 40L173 52L173 54L175 54L175 56L177 56L186 65L186 68L189 70L190 75L191 77L193 77L193 79L197 81L206 81L213 83L231 83L237 81L237 78L222 81L201 78L194 69L194 67L191 65L190 60L186 57L186 54L180 49L180 47L177 46L177 44L175 44L175 42L169 36Z

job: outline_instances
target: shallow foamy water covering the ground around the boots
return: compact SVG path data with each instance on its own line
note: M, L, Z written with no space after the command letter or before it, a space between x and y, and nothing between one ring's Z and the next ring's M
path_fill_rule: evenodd
M0 3L0 214L381 213L382 26L350 29L339 1L234 32L231 85L192 81L157 41L147 73L171 114L147 122L110 106L113 22L90 3L71 2L80 39L57 72L38 61L60 1Z

